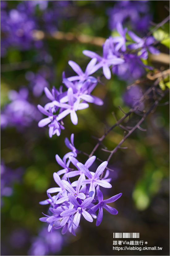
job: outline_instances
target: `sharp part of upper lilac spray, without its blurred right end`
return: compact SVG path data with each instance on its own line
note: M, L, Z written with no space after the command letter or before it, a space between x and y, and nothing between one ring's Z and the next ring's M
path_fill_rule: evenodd
M69 65L77 73L75 76L69 78L65 77L63 72L63 83L67 88L67 91L62 91L62 86L58 91L53 87L52 92L45 87L46 96L52 101L47 103L45 107L38 105L38 109L48 118L42 119L39 123L39 127L43 127L49 124L49 137L54 134L60 135L61 129L64 129L62 119L70 114L71 122L76 125L78 123L77 110L88 108L88 103L94 103L96 105L103 105L103 101L91 94L92 90L97 85L97 79L93 74L100 67L103 67L104 75L110 79L111 73L109 66L118 65L124 62L121 58L116 56L108 56L108 41L103 46L103 58L96 53L90 51L84 51L84 54L89 53L92 56L92 60L88 63L85 72L82 71L80 66L74 61L69 61ZM95 55L95 57L93 57ZM99 62L96 64L96 62ZM110 75L110 77L109 77Z

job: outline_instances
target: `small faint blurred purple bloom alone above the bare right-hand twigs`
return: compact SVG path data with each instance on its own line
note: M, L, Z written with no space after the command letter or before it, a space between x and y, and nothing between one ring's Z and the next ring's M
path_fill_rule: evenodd
M123 95L123 100L126 105L130 107L134 107L137 102L141 99L143 96L141 88L138 85L131 86L130 89L126 90L126 92ZM136 106L136 110L143 111L145 108L144 102L142 101Z

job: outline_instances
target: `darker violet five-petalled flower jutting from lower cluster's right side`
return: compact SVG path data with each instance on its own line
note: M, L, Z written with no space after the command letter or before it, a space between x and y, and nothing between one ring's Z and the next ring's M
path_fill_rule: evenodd
M99 226L100 223L102 222L103 208L106 209L111 214L118 213L118 211L115 208L107 205L107 203L112 203L112 202L116 201L119 197L121 197L121 195L122 195L122 193L120 193L118 195L114 195L106 200L103 200L102 192L99 189L97 190L97 197L98 197L99 203L96 204L95 206L91 207L91 209L88 210L88 213L95 213L99 209L99 213L98 213L97 220L96 220L96 226Z

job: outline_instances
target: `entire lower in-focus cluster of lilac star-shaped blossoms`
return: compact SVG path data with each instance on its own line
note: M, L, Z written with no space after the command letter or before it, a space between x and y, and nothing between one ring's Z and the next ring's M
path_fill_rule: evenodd
M103 219L103 208L111 214L117 214L118 211L107 204L116 201L122 193L103 200L100 186L112 187L109 183L111 178L108 178L108 162L104 161L100 164L96 172L89 171L96 156L91 156L85 164L80 163L76 159L79 151L74 147L74 134L71 135L70 141L66 138L65 144L72 151L67 153L63 159L56 155L56 161L63 169L53 173L54 181L58 187L49 188L47 190L49 199L40 202L40 204L50 204L51 213L50 215L44 214L46 217L40 218L40 221L49 223L48 231L62 228L62 234L69 230L75 235L74 230L79 227L81 216L89 222L93 222L93 219L97 218L96 226L99 226ZM70 168L70 163L76 169ZM102 178L100 175L105 169L106 173ZM70 182L69 178L78 176L78 180ZM52 196L53 193L57 193L57 195ZM99 213L96 216L98 209Z

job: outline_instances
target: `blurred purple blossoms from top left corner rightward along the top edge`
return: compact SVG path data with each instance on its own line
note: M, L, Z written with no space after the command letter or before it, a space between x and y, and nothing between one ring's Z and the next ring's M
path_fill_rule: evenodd
M51 8L47 8L48 5ZM68 17L68 1L23 1L15 9L8 10L7 1L1 1L1 56L6 56L9 47L19 50L42 49L42 40L34 40L33 32L40 29L53 32L58 21ZM39 15L36 15L37 7Z

